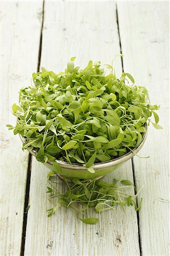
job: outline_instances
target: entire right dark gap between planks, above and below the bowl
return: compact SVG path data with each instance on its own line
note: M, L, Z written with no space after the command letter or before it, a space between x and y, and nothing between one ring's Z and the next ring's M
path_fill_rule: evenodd
M121 34L119 30L119 18L118 18L118 7L117 3L116 5L116 17L117 17L117 26L118 26L118 35L119 35L119 46L120 46L120 51L122 53L122 44L121 44ZM123 57L121 56L121 62L122 62L122 71L124 72L124 67L123 67ZM134 159L131 159L131 164L132 164L132 174L133 174L133 179L134 179L134 185L135 185L135 193L136 193L136 177L135 177L135 165L134 165ZM138 206L138 197L136 197L136 204ZM140 255L142 255L142 240L141 240L141 235L140 235L140 220L139 220L139 212L136 212L136 217L137 217L137 222L138 222L138 241L139 241L139 251Z

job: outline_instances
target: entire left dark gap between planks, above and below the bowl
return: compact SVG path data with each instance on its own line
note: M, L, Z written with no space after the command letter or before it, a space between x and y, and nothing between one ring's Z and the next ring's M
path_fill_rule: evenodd
M43 40L43 24L44 24L44 2L45 2L45 0L43 0L43 9L42 9L42 26L41 26L41 31L40 31L38 67L37 67L38 72L40 71L40 62L41 62L41 56L42 56L42 40ZM21 249L20 249L20 256L24 255L25 242L26 242L27 213L28 213L28 205L29 205L30 180L31 180L31 165L32 165L32 155L29 154L28 171L27 171L27 183L26 183L26 196L25 196L24 214L23 214L22 243L21 243Z

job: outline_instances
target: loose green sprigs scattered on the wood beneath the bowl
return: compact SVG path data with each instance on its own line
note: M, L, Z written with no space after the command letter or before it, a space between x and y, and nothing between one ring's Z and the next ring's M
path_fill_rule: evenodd
M48 217L51 216L59 207L66 207L74 212L76 216L86 224L96 224L98 218L84 218L87 209L94 208L97 213L109 209L115 209L118 205L121 207L134 205L135 210L139 210L142 204L142 198L139 205L136 203L136 195L130 195L125 192L125 188L134 187L129 180L113 180L107 183L103 180L80 180L73 178L72 181L56 180L53 176L55 172L48 174L48 181L51 187L47 187L47 193L51 193L48 199L52 203L52 208L48 209ZM64 182L67 187L64 192L59 191L55 183ZM63 186L62 186L63 188ZM82 207L78 207L81 204ZM81 217L80 217L81 216Z

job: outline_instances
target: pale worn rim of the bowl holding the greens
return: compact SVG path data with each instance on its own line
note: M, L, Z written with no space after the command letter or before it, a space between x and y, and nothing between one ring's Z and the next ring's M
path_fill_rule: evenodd
M147 135L148 135L148 125L147 125L147 123L145 124L145 127L146 127L146 132L143 133L142 141L140 141L140 143L138 144L137 147L133 148L133 150L127 152L125 155L119 156L119 158L115 158L115 159L109 160L107 162L95 163L92 166L93 169L94 170L101 170L101 169L105 169L105 168L111 168L113 166L117 166L117 164L122 164L123 162L126 162L127 160L131 159L134 155L136 155L139 152L139 150L143 147L143 144L146 141L146 138L147 138ZM24 142L24 137L22 135L19 135L19 137L20 137L21 141ZM31 155L34 155L34 156L37 155L35 150L29 150L28 148L27 148L27 150L30 152ZM77 170L79 170L79 171L80 170L81 171L88 171L87 168L85 167L85 164L76 164L76 163L69 164L67 162L60 161L60 160L57 160L57 159L55 160L55 162L59 163L61 168L74 170L74 171L77 171ZM47 160L46 163L51 164L51 166L52 166L51 161Z

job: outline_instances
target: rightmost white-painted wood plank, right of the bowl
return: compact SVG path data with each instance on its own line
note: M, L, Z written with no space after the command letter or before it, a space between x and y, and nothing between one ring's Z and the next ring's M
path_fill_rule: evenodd
M139 212L143 255L169 255L169 3L118 2L125 72L147 86L160 104L163 130L150 127L147 142L135 158L137 188L144 202ZM139 197L140 197L139 196Z

